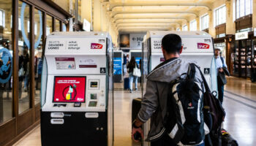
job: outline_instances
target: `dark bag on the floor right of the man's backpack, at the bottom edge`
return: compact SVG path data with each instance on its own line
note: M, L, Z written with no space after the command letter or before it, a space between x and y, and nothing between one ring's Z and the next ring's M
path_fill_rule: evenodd
M238 146L238 143L236 142L233 137L224 129L221 130L222 134L222 146Z

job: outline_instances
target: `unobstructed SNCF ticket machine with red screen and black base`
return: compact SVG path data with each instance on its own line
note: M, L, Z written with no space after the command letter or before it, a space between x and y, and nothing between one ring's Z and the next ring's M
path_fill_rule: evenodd
M105 32L54 32L42 70L41 139L113 145L112 42Z

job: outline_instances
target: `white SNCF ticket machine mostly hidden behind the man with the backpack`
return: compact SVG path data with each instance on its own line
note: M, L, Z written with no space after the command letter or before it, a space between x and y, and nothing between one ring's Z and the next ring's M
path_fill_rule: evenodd
M203 72L211 91L217 91L217 69L214 58L214 42L211 35L200 31L148 31L143 41L143 90L146 91L146 75L158 64L165 61L161 42L166 34L178 34L181 37L183 51L181 58L194 61ZM147 137L149 122L144 124L144 136ZM143 145L149 145L144 142Z

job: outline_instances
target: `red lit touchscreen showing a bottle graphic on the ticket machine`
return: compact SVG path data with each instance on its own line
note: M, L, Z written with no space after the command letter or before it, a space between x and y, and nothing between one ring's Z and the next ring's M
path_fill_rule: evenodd
M53 102L85 102L86 77L55 77Z

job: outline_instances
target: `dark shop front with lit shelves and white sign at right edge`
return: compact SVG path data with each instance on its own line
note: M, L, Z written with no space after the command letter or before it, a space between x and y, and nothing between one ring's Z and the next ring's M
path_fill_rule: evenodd
M256 37L252 30L252 15L236 20L236 39L231 44L233 76L251 78L256 72Z

